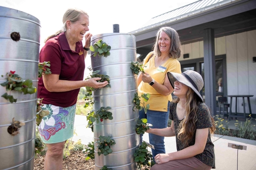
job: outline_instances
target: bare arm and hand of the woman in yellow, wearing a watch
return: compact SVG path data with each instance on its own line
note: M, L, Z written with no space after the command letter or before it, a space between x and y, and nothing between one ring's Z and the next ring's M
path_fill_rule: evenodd
M150 83L153 79L151 78L151 76L145 72L144 73L140 73L139 74L141 77L141 80L145 83ZM139 79L139 78L138 78ZM165 79L164 79L164 84L159 84L157 81L155 81L155 83L152 86L159 94L163 95L163 96L168 96L172 93L173 88L171 86L171 83L168 79L167 74L165 75Z

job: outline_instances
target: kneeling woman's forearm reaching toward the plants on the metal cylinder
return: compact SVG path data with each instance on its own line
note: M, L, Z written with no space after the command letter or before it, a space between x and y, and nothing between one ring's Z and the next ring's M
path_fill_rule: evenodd
M167 127L164 129L151 129L146 131L147 133L156 134L161 137L173 137L175 135L174 123L172 121L171 127Z

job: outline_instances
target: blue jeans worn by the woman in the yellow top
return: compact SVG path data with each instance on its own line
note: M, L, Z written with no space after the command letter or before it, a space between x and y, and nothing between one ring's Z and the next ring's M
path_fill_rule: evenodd
M152 124L150 128L163 129L167 127L169 120L169 106L170 101L168 103L167 112L159 112L159 111L151 111L148 110L147 114L145 114L144 109L139 112L139 118L147 118L148 123ZM155 149L151 149L153 159L157 154L165 154L165 146L164 146L164 137L160 137L155 134L149 133L149 143L151 143ZM142 143L142 134L140 135L140 143Z

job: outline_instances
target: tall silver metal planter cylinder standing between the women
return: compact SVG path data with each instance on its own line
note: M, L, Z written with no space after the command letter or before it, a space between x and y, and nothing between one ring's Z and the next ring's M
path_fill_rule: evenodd
M102 39L111 46L110 56L95 56L91 54L93 71L109 75L110 88L101 88L93 92L94 110L108 107L113 113L113 120L93 124L94 142L99 136L110 136L116 144L111 146L113 152L98 156L95 151L95 169L104 165L111 169L137 169L133 154L139 146L139 135L135 128L139 118L138 111L133 111L133 98L137 92L137 79L133 75L131 62L136 61L135 36L125 33L104 33L92 37L91 45ZM95 146L96 147L96 146Z

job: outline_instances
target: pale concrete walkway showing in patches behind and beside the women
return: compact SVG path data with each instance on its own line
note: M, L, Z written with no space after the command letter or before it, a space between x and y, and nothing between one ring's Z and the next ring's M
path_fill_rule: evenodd
M73 141L82 140L84 145L93 141L93 132L86 128L86 116L76 115L75 132ZM149 142L148 133L143 135L143 140ZM223 135L213 135L212 141L215 150L215 164L217 170L256 170L256 141L242 138L234 138ZM246 146L246 150L237 150L228 147L228 143ZM176 150L175 137L165 138L166 153ZM150 148L149 148L150 149ZM237 162L238 158L238 162ZM238 166L237 166L238 164Z

